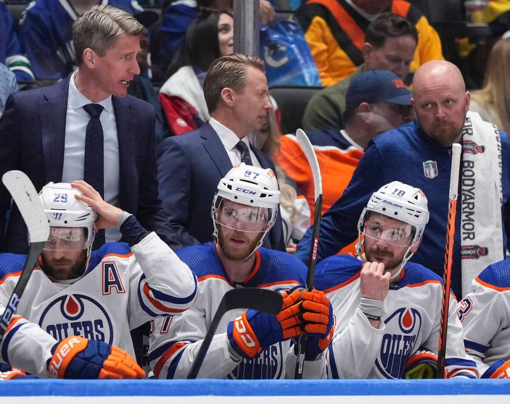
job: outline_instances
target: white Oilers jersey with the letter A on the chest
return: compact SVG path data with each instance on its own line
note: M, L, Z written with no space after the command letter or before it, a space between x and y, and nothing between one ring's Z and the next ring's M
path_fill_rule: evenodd
M0 254L0 313L26 259ZM189 267L154 232L131 249L109 243L92 252L86 274L72 284L53 282L38 265L16 311L23 319L11 321L0 343L0 362L47 377L50 348L71 335L117 345L134 357L130 330L186 310L196 292Z

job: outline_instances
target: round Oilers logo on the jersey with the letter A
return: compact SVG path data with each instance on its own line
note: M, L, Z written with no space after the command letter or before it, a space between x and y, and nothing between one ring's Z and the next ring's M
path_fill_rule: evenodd
M79 335L113 343L113 326L108 312L85 294L63 294L50 302L41 314L39 327L59 341Z

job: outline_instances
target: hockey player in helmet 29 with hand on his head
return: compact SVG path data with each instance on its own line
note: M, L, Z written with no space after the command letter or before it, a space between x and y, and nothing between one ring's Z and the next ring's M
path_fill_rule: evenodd
M39 197L50 234L0 343L0 362L39 378L143 377L130 330L190 307L196 278L156 233L86 182L50 182ZM91 252L96 226L116 226L127 243ZM26 259L0 254L0 313Z

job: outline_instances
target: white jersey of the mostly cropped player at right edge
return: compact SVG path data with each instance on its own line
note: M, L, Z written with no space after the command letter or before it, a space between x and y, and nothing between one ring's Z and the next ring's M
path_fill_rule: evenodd
M457 315L480 374L498 359L510 359L510 259L489 265L473 280Z

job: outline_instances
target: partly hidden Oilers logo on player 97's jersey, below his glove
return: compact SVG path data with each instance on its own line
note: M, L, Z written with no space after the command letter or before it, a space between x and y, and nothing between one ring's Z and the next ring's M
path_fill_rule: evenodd
M282 343L271 345L253 359L243 361L230 373L228 379L279 379L282 376Z

